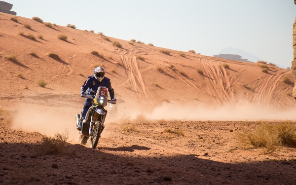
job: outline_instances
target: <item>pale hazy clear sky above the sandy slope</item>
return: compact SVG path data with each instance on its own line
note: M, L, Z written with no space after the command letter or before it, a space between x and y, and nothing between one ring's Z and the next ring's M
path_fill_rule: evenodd
M18 16L213 56L233 47L291 67L294 0L4 0Z

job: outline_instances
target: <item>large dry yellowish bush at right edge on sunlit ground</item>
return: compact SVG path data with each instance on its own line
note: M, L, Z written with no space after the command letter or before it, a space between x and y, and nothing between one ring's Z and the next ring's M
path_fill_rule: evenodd
M237 134L237 139L241 144L266 147L267 152L274 151L278 146L296 145L296 126L290 121L259 123L253 132Z

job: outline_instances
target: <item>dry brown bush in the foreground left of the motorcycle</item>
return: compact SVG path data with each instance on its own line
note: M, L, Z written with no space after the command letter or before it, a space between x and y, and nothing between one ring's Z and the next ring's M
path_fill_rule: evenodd
M65 152L65 144L69 138L68 130L65 133L54 133L54 137L43 136L40 143L40 154L63 154Z

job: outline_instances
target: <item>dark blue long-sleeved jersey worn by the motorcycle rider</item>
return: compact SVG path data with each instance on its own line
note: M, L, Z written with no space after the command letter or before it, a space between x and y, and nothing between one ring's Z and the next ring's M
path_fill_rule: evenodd
M81 91L86 92L86 94L95 95L100 86L107 87L111 99L114 98L114 89L111 86L110 79L106 76L101 82L99 82L94 75L88 76L88 78L81 87Z

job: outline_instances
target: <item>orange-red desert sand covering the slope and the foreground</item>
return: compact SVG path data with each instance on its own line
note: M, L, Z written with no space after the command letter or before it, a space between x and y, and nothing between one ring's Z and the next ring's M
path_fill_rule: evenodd
M0 184L295 184L295 148L268 153L236 139L259 120L296 120L291 70L267 65L263 73L257 63L192 52L181 56L11 17L0 13ZM67 41L57 38L60 34ZM11 54L16 61L5 58ZM84 102L80 87L97 65L111 79L119 106L116 119L107 117L98 147L91 149L77 144L74 116ZM292 82L283 82L285 76ZM39 79L48 84L39 87ZM182 129L184 136L165 132L168 128ZM66 153L38 154L43 135L65 129Z

